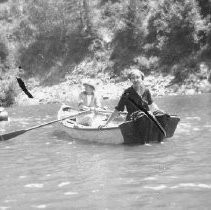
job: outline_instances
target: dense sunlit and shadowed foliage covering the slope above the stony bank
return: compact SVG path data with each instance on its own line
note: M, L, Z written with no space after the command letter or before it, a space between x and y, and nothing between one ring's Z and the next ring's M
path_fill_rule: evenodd
M21 65L50 84L137 66L182 80L209 60L210 8L209 0L0 1L0 73Z

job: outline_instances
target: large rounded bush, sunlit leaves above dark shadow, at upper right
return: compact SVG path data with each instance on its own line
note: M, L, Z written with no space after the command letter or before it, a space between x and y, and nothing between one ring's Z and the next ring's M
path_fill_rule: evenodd
M161 66L181 63L183 58L197 51L199 32L205 30L196 1L164 0L151 14L149 23L148 36Z

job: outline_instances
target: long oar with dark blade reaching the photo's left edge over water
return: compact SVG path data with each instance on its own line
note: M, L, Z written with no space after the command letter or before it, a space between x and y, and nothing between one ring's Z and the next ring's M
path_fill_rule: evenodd
M47 122L47 123L44 123L44 124L41 124L41 125L37 125L37 126L31 127L31 128L22 129L22 130L18 130L18 131L13 131L13 132L1 135L0 136L0 141L9 140L9 139L15 138L16 136L19 136L19 135L27 132L27 131L34 130L34 129L37 129L37 128L40 128L40 127L44 127L46 125L50 125L50 124L53 124L53 123L56 123L56 122L60 122L62 120L68 119L68 118L74 118L74 117L77 117L77 116L80 116L80 115L88 114L90 112L91 111L83 111L83 112L79 112L77 114L73 114L73 115L70 115L68 117L65 117L63 119L53 120L53 121L50 121L50 122Z

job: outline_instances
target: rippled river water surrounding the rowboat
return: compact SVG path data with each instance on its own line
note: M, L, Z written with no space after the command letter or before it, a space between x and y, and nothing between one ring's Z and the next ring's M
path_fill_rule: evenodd
M156 102L181 117L164 144L73 141L55 125L0 142L0 210L211 209L211 95ZM58 107L8 109L0 133L54 120Z

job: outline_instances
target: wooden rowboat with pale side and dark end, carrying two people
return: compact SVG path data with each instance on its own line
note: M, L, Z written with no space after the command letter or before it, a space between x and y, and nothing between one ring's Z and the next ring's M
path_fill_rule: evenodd
M76 110L58 112L58 119L64 118L68 114L73 114ZM87 142L97 142L103 144L145 144L148 142L160 142L164 138L170 138L174 135L179 117L176 115L163 114L156 116L166 131L166 136L160 132L159 128L146 115L143 115L135 121L125 121L124 116L113 120L108 127L99 129L110 112L92 113L94 123L92 126L77 124L76 119L65 119L59 122L59 127L68 133L71 139Z

